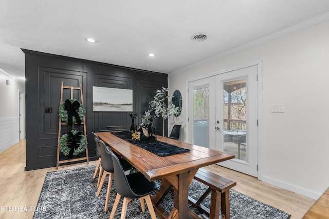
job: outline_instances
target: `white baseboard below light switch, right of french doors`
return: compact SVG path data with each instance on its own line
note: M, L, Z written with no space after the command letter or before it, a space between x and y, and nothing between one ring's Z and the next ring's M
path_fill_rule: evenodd
M295 192L295 193L304 195L306 197L313 198L314 200L318 200L318 198L321 196L320 193L310 191L310 190L307 190L307 189L304 189L304 188L301 188L301 187L298 187L298 186L295 186L295 185L291 185L291 184L288 184L288 183L285 183L285 182L282 182L282 181L274 180L273 178L268 177L268 176L263 175L262 176L262 181L265 182L265 183L269 183L271 185L278 186L280 188L289 190L291 192Z

